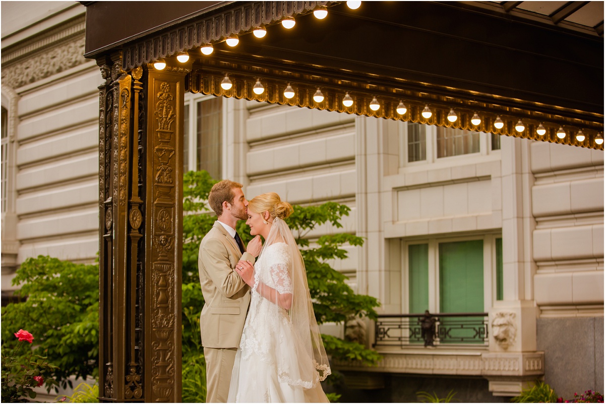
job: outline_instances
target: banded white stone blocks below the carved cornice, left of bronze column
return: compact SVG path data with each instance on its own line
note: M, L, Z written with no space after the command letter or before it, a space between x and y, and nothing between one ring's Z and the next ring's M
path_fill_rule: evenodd
M94 261L99 250L99 69L88 62L18 89L19 262Z

